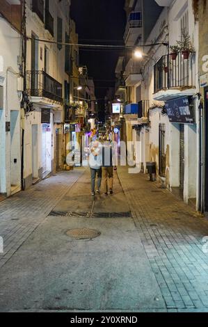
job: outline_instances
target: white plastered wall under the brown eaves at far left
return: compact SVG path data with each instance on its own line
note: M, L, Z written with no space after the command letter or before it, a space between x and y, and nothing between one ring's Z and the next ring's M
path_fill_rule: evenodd
M0 110L0 193L10 195L10 185L20 186L20 98L17 93L17 77L19 67L19 34L11 28L3 17L0 17L0 83L3 86L3 110ZM6 121L13 122L15 129L13 138L11 132L6 133ZM14 120L14 117L16 119ZM13 124L12 124L13 127ZM11 146L12 143L12 146ZM14 163L17 159L17 163ZM12 169L12 172L11 172Z

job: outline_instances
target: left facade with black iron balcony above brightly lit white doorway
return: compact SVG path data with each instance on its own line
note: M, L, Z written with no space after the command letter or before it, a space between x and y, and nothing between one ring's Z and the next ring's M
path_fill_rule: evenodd
M70 41L70 1L27 0L26 30L26 92L32 104L24 116L24 187L28 188L63 168L65 105L70 102L72 75L70 46L63 43ZM41 42L38 35L54 44Z

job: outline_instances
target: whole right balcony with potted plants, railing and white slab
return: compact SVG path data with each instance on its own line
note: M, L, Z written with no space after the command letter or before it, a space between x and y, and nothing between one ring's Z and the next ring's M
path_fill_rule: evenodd
M158 101L195 94L195 52L186 59L182 52L173 59L162 56L154 65L154 95Z

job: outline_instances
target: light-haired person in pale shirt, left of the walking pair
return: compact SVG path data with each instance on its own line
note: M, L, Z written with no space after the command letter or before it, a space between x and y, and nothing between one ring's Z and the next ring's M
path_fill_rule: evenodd
M97 175L96 193L100 194L100 186L102 182L102 145L98 141L94 141L90 145L89 166L91 173L91 191L92 196L95 196L95 179Z

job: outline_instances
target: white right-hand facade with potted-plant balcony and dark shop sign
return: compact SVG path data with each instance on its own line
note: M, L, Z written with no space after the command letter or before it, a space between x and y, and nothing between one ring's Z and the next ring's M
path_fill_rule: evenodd
M164 6L164 1L156 1ZM148 99L149 125L142 127L143 163L157 164L157 178L163 186L197 205L198 201L198 24L191 1L167 1L152 29L143 62L145 76L141 95ZM170 47L190 35L194 51L174 57ZM148 146L147 146L148 143Z

